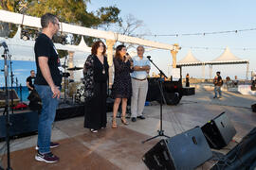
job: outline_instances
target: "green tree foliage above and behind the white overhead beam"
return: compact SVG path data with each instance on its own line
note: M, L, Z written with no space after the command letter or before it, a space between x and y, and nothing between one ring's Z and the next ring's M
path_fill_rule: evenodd
M94 13L86 10L87 3L90 3L90 0L0 0L0 8L36 17L41 17L46 12L51 12L57 15L61 22L78 26L97 28L102 25L109 26L119 23L119 8L101 7ZM3 23L0 25L1 36L7 36L3 34L10 35L11 30L14 30L11 25L8 27L9 29L7 29L7 24ZM36 31L30 31L30 34L35 33ZM74 40L71 42L77 44L81 36L73 35L72 38ZM90 44L94 42L95 39L84 37L84 40L87 44Z

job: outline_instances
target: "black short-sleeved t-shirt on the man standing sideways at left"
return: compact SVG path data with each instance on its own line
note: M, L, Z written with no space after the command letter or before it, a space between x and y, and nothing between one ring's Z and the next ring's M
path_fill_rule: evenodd
M62 76L58 66L60 66L60 59L58 52L53 44L53 42L46 36L46 34L41 33L36 39L35 46L35 59L36 59L36 68L37 74L35 78L35 84L38 85L48 85L45 77L42 75L42 72L39 67L38 57L44 56L48 58L48 66L52 80L56 86L61 86Z

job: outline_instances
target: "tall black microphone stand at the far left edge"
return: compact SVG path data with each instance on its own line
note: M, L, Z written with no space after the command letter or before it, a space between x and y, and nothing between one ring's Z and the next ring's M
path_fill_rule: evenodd
M5 83L6 83L6 106L4 110L4 115L6 116L6 142L7 142L7 152L8 152L8 167L7 170L11 170L10 167L10 159L9 159L9 127L10 127L10 122L9 122L9 90L8 90L8 84L9 84L9 63L8 63L8 58L9 56L9 49L8 45L6 42L2 42L1 45L5 48L4 50L4 55L2 56L5 60Z

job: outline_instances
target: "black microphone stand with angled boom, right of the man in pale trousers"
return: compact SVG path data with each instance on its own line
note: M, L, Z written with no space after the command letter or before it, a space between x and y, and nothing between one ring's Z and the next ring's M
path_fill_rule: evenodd
M153 63L153 65L155 65L155 63L153 62L152 59L150 59L151 57L148 56L147 57L151 63ZM163 113L162 113L162 110L163 110L163 98L164 98L164 94L163 94L163 87L162 87L162 76L164 77L167 77L165 76L165 74L155 65L155 68L159 71L160 73L160 78L158 79L158 87L159 87L159 90L160 90L160 93L161 93L161 99L160 99L160 129L157 130L158 134L155 135L154 137L152 138L149 138L149 139L146 139L145 141L142 141L142 144L146 143L146 142L149 142L157 137L166 137L166 138L170 138L169 136L165 135L164 134L164 130L163 130Z

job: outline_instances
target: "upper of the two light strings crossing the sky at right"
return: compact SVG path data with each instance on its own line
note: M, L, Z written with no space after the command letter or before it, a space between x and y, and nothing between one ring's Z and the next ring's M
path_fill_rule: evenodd
M237 29L237 30L228 30L228 31L214 31L214 32L202 32L202 33L186 33L186 34L144 34L143 36L147 37L179 37L179 36L206 36L206 35L213 35L213 34L228 34L228 33L239 33L239 32L246 32L246 31L254 31L256 28L250 29ZM137 36L141 36L137 34Z

